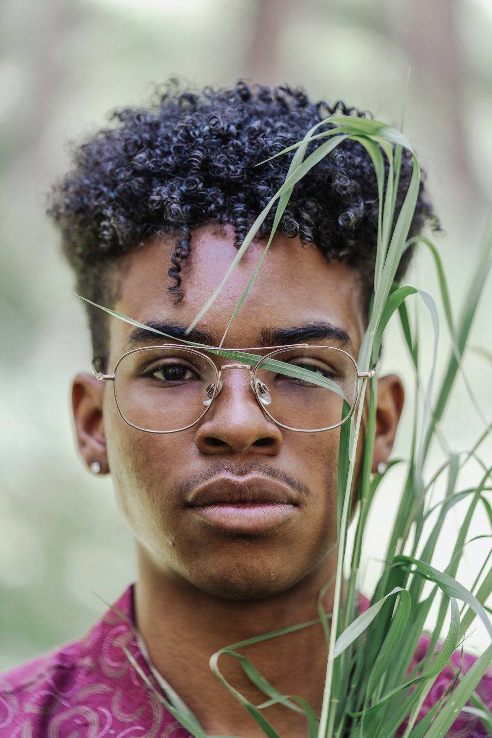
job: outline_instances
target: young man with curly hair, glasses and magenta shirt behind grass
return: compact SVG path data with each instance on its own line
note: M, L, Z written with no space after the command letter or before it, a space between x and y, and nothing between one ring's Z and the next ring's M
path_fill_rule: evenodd
M211 675L209 658L318 617L319 590L336 568L341 405L321 421L303 404L302 379L285 380L285 392L281 374L263 381L272 376L265 362L252 373L185 342L221 343L273 214L207 314L185 331L282 184L290 157L259 162L334 111L361 115L343 103L313 104L302 90L238 83L190 94L171 83L148 110L122 111L114 128L77 148L74 169L55 187L49 212L77 292L148 326L88 306L97 376L80 373L73 385L80 453L93 472L111 473L136 539L139 579L86 638L4 676L1 738L187 736L155 690L171 702L178 694L204 734L264 735ZM398 204L411 170L403 159ZM355 372L347 354L357 359L367 325L377 197L370 159L353 142L311 170L294 188L223 348L248 348L260 360L308 343L316 347L308 354L294 348L280 359L289 368L315 365L316 376L329 378L319 348L328 346ZM412 235L426 221L436 222L421 185ZM378 381L375 472L388 461L403 389L396 376L367 381ZM359 444L356 479L361 454ZM332 604L329 587L328 612ZM319 715L321 625L243 653ZM238 661L223 658L220 667L252 703L266 700ZM274 704L263 713L283 738L308 734L296 711Z

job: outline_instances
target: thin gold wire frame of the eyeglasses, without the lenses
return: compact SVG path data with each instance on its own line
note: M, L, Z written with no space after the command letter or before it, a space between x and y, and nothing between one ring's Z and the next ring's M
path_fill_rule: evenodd
M263 413L265 413L265 415L267 415L267 417L270 418L270 420L273 421L276 425L282 428L285 428L285 430L294 430L299 433L318 433L318 432L322 432L325 430L333 430L333 428L338 428L339 426L343 425L350 419L350 417L354 413L354 410L356 409L358 396L360 395L360 392L361 392L361 379L371 379L373 376L375 376L377 368L373 368L373 369L370 369L369 371L361 372L358 370L356 360L353 358L353 356L351 356L347 351L344 351L342 348L336 348L335 346L318 346L317 344L313 345L313 348L330 348L332 351L339 351L340 354L343 354L344 356L347 357L347 359L350 359L350 362L352 362L353 367L355 369L356 378L357 378L356 391L354 393L352 406L350 407L350 413L348 413L347 417L342 418L342 420L340 420L338 423L329 425L325 428L313 428L313 429L293 428L291 426L280 423L280 421L277 421L273 417L273 415L268 413L268 410L265 407L265 404L263 403L260 397L260 389L261 389L261 385L263 385L263 382L260 382L260 380L256 379L257 371L259 368L261 368L261 365L263 364L263 362L266 361L266 359L274 359L276 354L283 353L285 349L309 348L310 346L311 344L309 343L294 343L294 344L289 344L285 346L260 346L260 347L256 346L254 348L230 349L231 351L244 351L244 352L246 351L268 351L269 349L271 349L271 351L269 351L269 353L265 354L264 356L259 356L258 361L254 366L252 366L251 364L222 364L221 366L217 367L215 363L212 362L212 359L210 359L210 357L204 353L204 351L199 351L197 348L192 348L191 346L184 345L184 344L164 343L162 345L151 345L151 346L142 346L140 348L132 348L131 351L127 351L125 354L119 357L116 365L114 366L114 373L112 374L105 374L103 372L97 371L97 368L95 366L96 359L94 359L94 362L92 362L92 370L94 371L95 378L100 379L101 382L113 382L114 401L116 402L117 410L122 420L125 421L125 423L131 426L132 428L135 428L136 430L141 430L142 432L145 432L145 433L178 433L181 430L188 430L188 428L192 428L194 425L196 425L199 421L201 421L201 418L204 417L204 415L209 410L209 407L212 405L213 401L218 396L218 393L220 393L223 387L223 382L221 379L222 371L226 369L247 369L249 370L249 374L251 377L250 385L254 393L254 396L257 399L257 403L260 405L260 408L261 410L263 410ZM174 430L150 430L148 428L142 428L128 421L128 419L125 418L125 416L122 414L119 408L119 402L118 402L118 397L117 397L117 387L116 387L116 382L114 381L117 375L118 366L120 362L122 362L122 360L125 359L126 356L128 356L129 354L136 354L139 351L149 351L151 349L159 349L159 348L174 348L174 349L179 349L180 351L185 350L185 351L189 351L190 354L195 354L197 356L200 356L202 359L205 359L209 363L215 375L215 383L214 383L215 386L213 387L212 394L208 401L207 407L205 407L204 409L204 412L201 413L201 415L195 421L193 421L193 423L190 423L189 425L184 426L182 428L176 428ZM225 350L224 348L221 348L218 346L210 346L210 347L207 346L207 351L213 352L213 351L224 351L224 350Z

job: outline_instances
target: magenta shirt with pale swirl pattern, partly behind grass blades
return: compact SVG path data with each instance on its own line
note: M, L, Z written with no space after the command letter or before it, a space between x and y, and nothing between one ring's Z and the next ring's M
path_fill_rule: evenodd
M164 708L122 650L126 646L150 683L159 690L142 655L134 623L133 587L85 638L18 666L0 676L0 738L191 738ZM428 644L428 641L427 641ZM415 658L422 658L426 639ZM460 657L457 655L456 663ZM473 663L465 657L463 672ZM423 707L428 711L452 678L446 667ZM477 690L492 708L492 677ZM488 733L477 717L462 713L449 738Z

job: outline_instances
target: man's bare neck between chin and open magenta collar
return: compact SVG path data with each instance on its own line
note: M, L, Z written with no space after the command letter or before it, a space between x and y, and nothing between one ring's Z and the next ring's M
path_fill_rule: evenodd
M245 708L211 676L209 659L226 646L273 630L319 618L319 590L333 576L336 554L302 582L262 600L212 596L186 580L153 566L139 550L135 589L136 624L153 666L191 709L207 734L264 737ZM333 587L323 600L333 606ZM307 700L319 716L328 649L321 624L237 649L282 694ZM254 705L268 700L246 677L238 659L221 655L221 674ZM285 738L308 734L305 717L284 706L262 710Z

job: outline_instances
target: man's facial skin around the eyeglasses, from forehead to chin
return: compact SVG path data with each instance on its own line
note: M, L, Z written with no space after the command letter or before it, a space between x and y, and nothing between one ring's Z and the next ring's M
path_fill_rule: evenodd
M215 345L263 246L250 246L197 326ZM122 260L117 311L140 323L186 328L237 254L230 227L196 230L183 271L185 297L175 304L167 291L172 249L171 240L158 239ZM305 325L326 326L327 334L320 331L310 343L336 345L357 357L365 327L358 277L348 266L326 263L316 248L277 235L224 347L268 345L265 337L273 331ZM330 339L330 327L342 329L349 341ZM111 319L109 370L125 351L150 345L148 339L128 342L132 330ZM224 371L222 379L224 387L204 418L167 435L125 424L111 383L101 383L108 466L147 565L217 596L271 596L322 570L335 544L339 430L285 430L261 410L248 371ZM357 468L359 462L360 449ZM269 496L283 503L279 514L272 514ZM256 511L235 503L238 497L256 502ZM204 500L235 509L221 523L220 515L199 508Z

